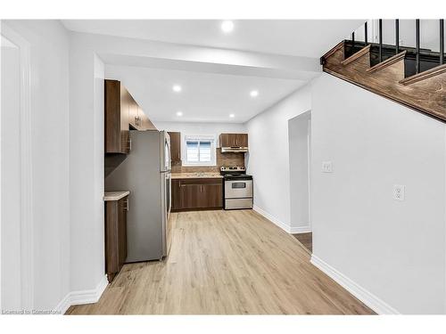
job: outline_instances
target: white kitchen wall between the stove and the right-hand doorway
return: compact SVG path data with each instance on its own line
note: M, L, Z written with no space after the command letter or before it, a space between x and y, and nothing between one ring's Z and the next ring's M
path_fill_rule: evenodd
M310 86L303 86L246 123L254 206L288 232L295 232L290 215L288 120L310 110L310 93Z

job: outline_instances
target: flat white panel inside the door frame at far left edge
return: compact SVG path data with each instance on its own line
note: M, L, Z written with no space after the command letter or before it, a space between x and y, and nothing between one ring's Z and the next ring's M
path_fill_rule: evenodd
M2 39L1 51L1 298L21 309L21 50Z

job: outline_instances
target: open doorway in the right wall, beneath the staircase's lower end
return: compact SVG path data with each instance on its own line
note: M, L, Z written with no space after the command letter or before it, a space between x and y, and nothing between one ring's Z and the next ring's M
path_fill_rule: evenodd
M312 251L310 212L311 111L288 120L291 230Z

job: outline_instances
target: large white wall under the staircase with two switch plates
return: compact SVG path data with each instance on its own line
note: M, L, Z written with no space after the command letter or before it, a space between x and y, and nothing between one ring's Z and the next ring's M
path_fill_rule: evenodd
M311 122L314 255L397 312L444 314L445 125L326 74Z

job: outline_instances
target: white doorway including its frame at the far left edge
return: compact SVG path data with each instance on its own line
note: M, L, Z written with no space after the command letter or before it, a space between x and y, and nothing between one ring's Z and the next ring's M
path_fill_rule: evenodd
M29 44L2 22L0 309L32 309Z

